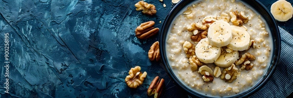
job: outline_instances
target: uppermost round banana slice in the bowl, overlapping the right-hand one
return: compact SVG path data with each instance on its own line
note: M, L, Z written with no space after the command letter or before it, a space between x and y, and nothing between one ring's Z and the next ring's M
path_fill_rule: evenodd
M209 26L208 38L212 46L227 46L232 39L230 24L223 20L212 23Z

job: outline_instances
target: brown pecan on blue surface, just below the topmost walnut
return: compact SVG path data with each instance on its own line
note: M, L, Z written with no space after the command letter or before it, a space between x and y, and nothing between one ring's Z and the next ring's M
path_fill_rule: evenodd
M154 21L147 21L145 23L141 23L135 29L135 36L139 39L146 39L157 34L159 32L159 28L152 27L154 24Z

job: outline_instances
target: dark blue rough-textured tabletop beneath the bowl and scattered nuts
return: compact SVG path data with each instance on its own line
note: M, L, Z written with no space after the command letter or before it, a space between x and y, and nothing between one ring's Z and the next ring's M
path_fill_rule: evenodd
M146 16L135 10L138 1L1 0L0 62L4 62L4 33L9 33L11 63L9 94L3 88L5 67L0 67L0 98L145 98L155 76L165 79L162 97L187 97L163 65L147 57L159 34L139 40L134 33L149 20L161 28L175 4L164 0L164 8L159 0L146 0L157 8L156 15ZM275 0L260 1L270 8ZM292 34L292 22L278 25ZM130 89L124 79L136 65L147 77L142 86Z

